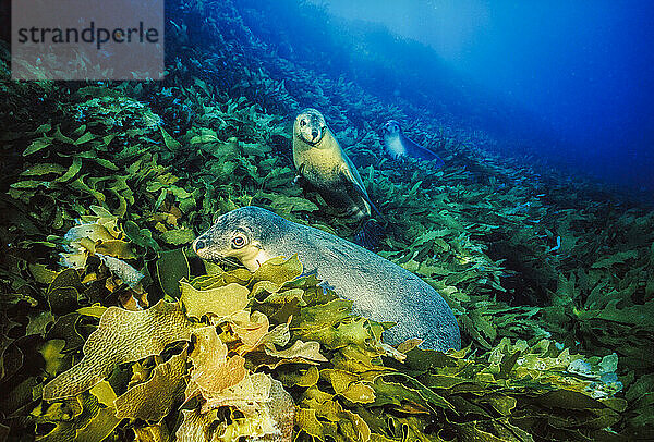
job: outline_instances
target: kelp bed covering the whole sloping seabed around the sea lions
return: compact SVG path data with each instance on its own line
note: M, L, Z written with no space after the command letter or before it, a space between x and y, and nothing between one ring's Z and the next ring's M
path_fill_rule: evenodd
M164 83L13 83L3 52L0 435L653 439L654 213L280 57L256 13L171 9ZM383 345L295 257L250 273L189 249L250 204L351 237L293 184L284 118L307 105L388 218L379 254L451 305L460 352ZM384 159L391 118L448 165Z

